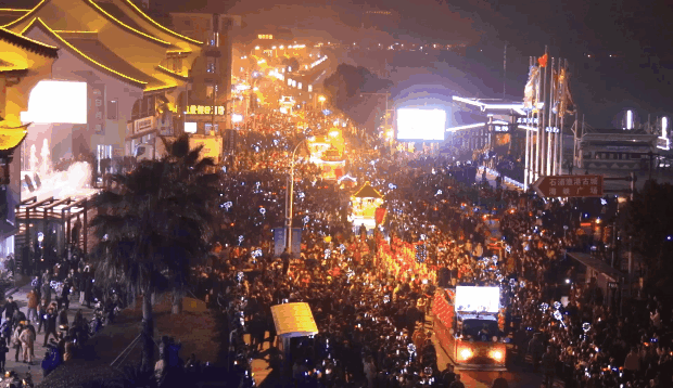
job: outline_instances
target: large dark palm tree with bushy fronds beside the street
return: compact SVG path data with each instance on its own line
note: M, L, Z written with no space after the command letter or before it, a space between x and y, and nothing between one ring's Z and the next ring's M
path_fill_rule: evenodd
M154 322L151 295L169 283L182 292L191 264L206 251L211 198L217 176L213 160L189 150L189 139L166 142L168 155L144 160L131 172L112 177L96 201L92 227L97 279L125 284L142 294L142 367L153 367ZM181 300L181 299L180 299Z

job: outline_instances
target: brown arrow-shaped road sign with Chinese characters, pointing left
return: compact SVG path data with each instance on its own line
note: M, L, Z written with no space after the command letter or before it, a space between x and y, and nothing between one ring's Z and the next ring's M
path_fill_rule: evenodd
M532 186L543 197L602 196L602 176L541 177Z

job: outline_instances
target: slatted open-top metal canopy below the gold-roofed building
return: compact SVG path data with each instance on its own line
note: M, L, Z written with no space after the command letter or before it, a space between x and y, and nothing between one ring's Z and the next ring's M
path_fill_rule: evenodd
M58 199L50 196L42 201L37 201L36 196L22 201L16 205L16 220L20 223L25 224L27 243L30 244L30 228L37 228L34 224L42 222L42 227L46 228L47 223L55 222L64 227L65 229L65 243L66 244L79 244L79 242L72 241L72 223L73 221L80 220L82 222L84 242L82 250L86 253L88 249L88 212L90 209L93 195L89 196L68 196L66 198Z

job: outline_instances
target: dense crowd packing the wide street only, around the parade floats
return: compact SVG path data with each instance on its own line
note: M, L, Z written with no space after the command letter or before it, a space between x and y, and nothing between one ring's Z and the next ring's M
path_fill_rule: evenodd
M213 258L202 290L236 312L237 333L254 338L245 354L265 339L274 342L274 335L264 338L274 331L270 306L307 301L320 334L296 344L292 360L278 361L290 363L295 383L385 386L388 376L389 385L444 384L423 344L414 344L417 357L406 358L437 273L447 271L453 284L503 286L503 334L513 338L512 354L542 370L547 383L556 375L567 386L666 386L671 355L661 303L651 310L634 305L620 315L595 280L576 283L580 268L566 253L585 243L573 204L468 185L452 177L455 166L454 158L352 155L350 174L370 181L386 199L385 221L368 235L347 222L343 186L322 181L318 171L301 176L294 225L303 227L302 251L288 262L274 255L265 229L271 224L265 217L282 222L287 171L227 174L223 201L236 204L230 212L242 208L229 220L257 220L258 233L230 241ZM426 248L422 257L417 245Z

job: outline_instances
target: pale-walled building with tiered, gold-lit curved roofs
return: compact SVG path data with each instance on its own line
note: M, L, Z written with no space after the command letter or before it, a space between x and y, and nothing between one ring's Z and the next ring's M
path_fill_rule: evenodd
M87 85L86 124L38 122L33 118L41 115L28 104L24 121L35 124L23 150L24 169L29 168L28 150L35 145L39 154L45 140L52 163L93 153L104 172L109 164L101 168L100 160L134 156L139 145L158 156L163 143L157 137L183 130L191 111L190 72L208 65L201 54L214 41L178 34L131 0L42 0L27 11L0 10L0 22L10 16L3 28L59 49L51 80ZM225 108L221 101L209 101L193 114L219 118Z

